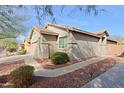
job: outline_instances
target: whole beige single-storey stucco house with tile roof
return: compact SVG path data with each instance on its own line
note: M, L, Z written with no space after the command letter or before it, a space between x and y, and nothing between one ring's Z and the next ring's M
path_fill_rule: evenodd
M68 53L71 60L107 55L107 45L117 45L109 39L107 30L87 32L78 28L48 23L33 27L29 36L30 52L36 58L47 59L56 51Z

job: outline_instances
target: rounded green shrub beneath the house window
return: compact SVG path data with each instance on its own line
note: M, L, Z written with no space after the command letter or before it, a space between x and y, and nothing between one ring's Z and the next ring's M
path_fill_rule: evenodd
M64 64L69 61L69 57L66 53L64 52L55 52L51 55L51 60L53 64Z

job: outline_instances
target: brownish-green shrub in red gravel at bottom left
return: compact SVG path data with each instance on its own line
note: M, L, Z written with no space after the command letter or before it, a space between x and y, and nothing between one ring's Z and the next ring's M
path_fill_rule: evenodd
M27 87L33 83L34 67L21 66L10 73L8 82L14 84L15 87Z

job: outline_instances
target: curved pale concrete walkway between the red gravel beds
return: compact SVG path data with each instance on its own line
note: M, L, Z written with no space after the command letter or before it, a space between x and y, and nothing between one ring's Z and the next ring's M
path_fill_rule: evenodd
M35 71L35 76L44 76L44 77L57 77L61 76L64 74L67 74L69 72L73 72L75 70L78 70L80 68L83 68L85 66L88 66L93 63L97 63L100 60L105 59L105 57L100 57L100 58L92 58L87 61L82 61L70 66L62 67L62 68L57 68L53 70L48 70L48 69L36 69Z

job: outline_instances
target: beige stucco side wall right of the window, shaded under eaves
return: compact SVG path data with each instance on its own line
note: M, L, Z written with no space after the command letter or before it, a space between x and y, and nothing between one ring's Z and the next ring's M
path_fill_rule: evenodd
M99 39L72 32L72 45L69 48L69 56L72 60L81 60L82 58L98 56Z

